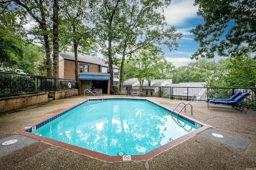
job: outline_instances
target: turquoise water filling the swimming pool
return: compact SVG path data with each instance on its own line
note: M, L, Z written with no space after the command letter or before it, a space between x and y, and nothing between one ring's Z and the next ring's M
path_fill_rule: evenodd
M34 129L43 137L116 156L144 154L198 126L147 100L113 99L85 102Z

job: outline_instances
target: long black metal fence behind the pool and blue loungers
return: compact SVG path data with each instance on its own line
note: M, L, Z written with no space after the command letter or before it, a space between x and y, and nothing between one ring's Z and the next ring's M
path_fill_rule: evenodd
M207 101L208 98L228 99L236 92L250 93L240 102L241 106L256 109L256 88L210 88L210 87L111 87L111 94L126 96L152 96L172 100Z

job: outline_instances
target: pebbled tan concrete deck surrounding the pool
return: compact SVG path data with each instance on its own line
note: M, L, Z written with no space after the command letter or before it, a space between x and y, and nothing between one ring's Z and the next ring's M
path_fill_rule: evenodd
M180 102L163 98L150 98L150 100L170 109ZM32 123L82 101L84 96L76 96L0 114L0 143L14 138L22 141L22 145L18 143L19 141L12 144L17 147L0 146L0 170L256 170L256 111L240 113L232 107L220 105L210 105L208 109L205 102L189 102L193 106L193 115L190 115L189 107L186 113L184 111L182 113L213 128L150 160L103 162L15 134L16 131ZM224 137L222 139L212 137L210 135L212 132L218 132Z

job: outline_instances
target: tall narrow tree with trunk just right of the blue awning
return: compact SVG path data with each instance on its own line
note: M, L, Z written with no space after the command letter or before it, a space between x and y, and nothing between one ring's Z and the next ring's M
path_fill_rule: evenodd
M121 38L120 32L124 25L126 11L125 0L102 0L94 4L91 15L98 34L100 51L108 61L110 71L110 86L114 85L113 58L118 53L113 46Z

